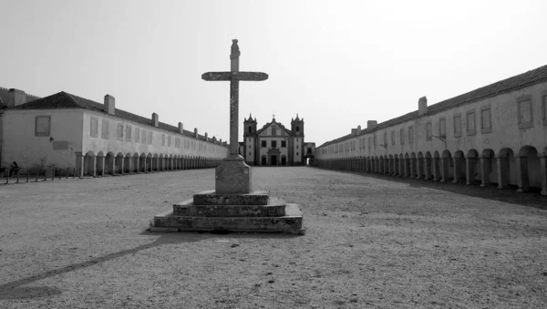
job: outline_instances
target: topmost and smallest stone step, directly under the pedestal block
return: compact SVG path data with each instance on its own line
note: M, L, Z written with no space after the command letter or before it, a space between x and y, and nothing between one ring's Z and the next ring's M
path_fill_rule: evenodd
M217 194L214 190L194 194L195 205L266 205L270 193L253 191L244 194Z

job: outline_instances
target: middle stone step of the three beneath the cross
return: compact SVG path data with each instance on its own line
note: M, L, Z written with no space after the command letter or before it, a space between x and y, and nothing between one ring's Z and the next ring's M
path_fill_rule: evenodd
M196 205L194 200L182 201L173 205L177 216L202 217L283 217L286 202L270 198L265 205Z

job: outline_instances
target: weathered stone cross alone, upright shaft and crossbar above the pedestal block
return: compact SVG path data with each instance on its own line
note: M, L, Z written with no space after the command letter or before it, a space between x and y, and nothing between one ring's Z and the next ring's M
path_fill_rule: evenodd
M239 57L241 53L237 46L237 39L232 40L232 52L230 54L230 72L207 72L201 75L203 80L230 81L230 156L226 160L243 160L238 154L239 149L239 82L262 81L268 79L268 75L262 72L240 72Z

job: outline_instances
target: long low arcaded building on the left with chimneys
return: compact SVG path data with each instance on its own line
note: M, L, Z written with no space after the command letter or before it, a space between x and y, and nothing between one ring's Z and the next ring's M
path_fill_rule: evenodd
M100 176L215 167L228 144L115 107L59 92L46 98L0 88L0 162L22 168L77 170Z

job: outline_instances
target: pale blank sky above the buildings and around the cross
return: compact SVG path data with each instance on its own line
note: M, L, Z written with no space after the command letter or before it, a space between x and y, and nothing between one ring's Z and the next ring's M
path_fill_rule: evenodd
M547 64L547 1L0 0L0 87L67 91L229 139L232 38L240 120L304 118L317 146ZM240 124L240 140L243 140Z

